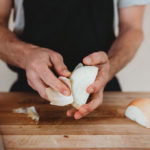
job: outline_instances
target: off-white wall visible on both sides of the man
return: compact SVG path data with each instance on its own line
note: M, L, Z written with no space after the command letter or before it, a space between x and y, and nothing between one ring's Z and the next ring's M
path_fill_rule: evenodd
M150 91L150 6L144 20L145 40L133 61L118 73L123 91ZM8 91L16 78L0 60L0 91Z

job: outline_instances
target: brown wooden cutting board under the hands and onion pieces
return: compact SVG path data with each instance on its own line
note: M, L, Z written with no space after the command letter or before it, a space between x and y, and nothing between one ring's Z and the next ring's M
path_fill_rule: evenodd
M81 120L66 117L70 107L50 106L34 94L0 93L0 133L7 150L125 150L150 149L150 129L124 117L134 98L150 93L105 93L104 103ZM35 106L39 124L18 107Z

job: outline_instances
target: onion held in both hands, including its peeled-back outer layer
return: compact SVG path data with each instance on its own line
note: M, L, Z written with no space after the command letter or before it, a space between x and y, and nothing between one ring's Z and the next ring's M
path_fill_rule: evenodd
M98 68L95 66L83 66L82 63L72 72L70 78L59 77L71 90L70 96L53 90L52 88L46 89L46 94L52 105L65 106L72 104L75 108L79 109L80 106L86 104L89 93L87 88L91 85L97 76Z

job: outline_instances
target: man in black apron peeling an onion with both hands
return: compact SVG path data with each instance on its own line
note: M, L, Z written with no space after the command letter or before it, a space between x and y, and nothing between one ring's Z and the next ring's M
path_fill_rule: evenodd
M58 76L70 76L79 63L97 66L96 81L87 88L90 102L67 116L80 119L103 101L104 91L120 91L116 73L131 61L143 40L144 5L150 0L118 0L119 35L114 34L114 2L110 0L0 0L0 58L18 73L11 91L45 88L70 95ZM8 29L15 8L14 32ZM32 90L33 89L33 90Z

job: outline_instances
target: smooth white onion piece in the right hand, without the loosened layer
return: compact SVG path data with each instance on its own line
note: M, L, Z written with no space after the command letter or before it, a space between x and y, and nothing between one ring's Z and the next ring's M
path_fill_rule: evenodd
M83 104L86 104L89 97L87 88L95 81L97 73L98 68L94 66L83 66L73 71L70 80L72 83L71 89L74 98L72 105L75 108L78 109Z

